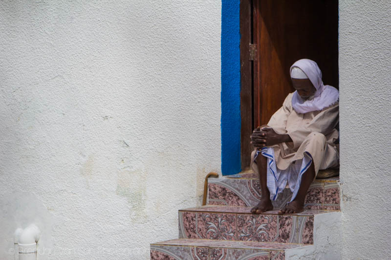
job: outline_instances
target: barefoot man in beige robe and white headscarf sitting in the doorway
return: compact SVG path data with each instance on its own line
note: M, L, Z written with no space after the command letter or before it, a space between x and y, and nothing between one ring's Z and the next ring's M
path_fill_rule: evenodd
M302 59L290 67L295 92L267 125L253 131L251 168L259 174L261 201L251 209L254 214L272 210L271 200L289 184L290 202L279 211L299 213L319 169L337 167L339 152L334 142L339 133L339 93L324 85L322 72L313 60Z

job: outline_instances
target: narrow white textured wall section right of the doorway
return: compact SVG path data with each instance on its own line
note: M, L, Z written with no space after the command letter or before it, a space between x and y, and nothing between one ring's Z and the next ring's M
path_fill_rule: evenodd
M343 259L391 255L391 1L339 1Z

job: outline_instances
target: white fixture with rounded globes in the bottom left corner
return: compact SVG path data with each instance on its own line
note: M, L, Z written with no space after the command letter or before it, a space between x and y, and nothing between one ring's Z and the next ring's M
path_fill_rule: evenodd
M37 260L37 243L41 236L40 229L35 224L30 224L21 233L20 230L21 228L18 228L15 231L15 238L18 240L19 260ZM20 235L19 238L18 235Z

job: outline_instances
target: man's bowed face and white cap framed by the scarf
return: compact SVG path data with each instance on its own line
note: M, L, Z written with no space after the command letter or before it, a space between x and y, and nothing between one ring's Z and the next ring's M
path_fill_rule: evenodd
M292 67L290 77L293 87L297 90L297 93L302 99L312 100L314 98L316 88L303 70L299 67Z

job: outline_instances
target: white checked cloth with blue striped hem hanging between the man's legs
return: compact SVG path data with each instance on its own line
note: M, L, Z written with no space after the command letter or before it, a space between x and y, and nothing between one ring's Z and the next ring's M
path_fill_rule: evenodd
M299 191L302 176L312 163L312 157L308 152L304 153L301 160L292 162L285 170L280 170L276 166L274 159L274 149L272 147L263 147L261 151L257 151L254 157L254 166L257 165L256 159L261 154L267 157L267 188L270 192L270 200L276 200L278 194L281 193L286 184L289 183L289 188L292 191L292 198L296 198Z

